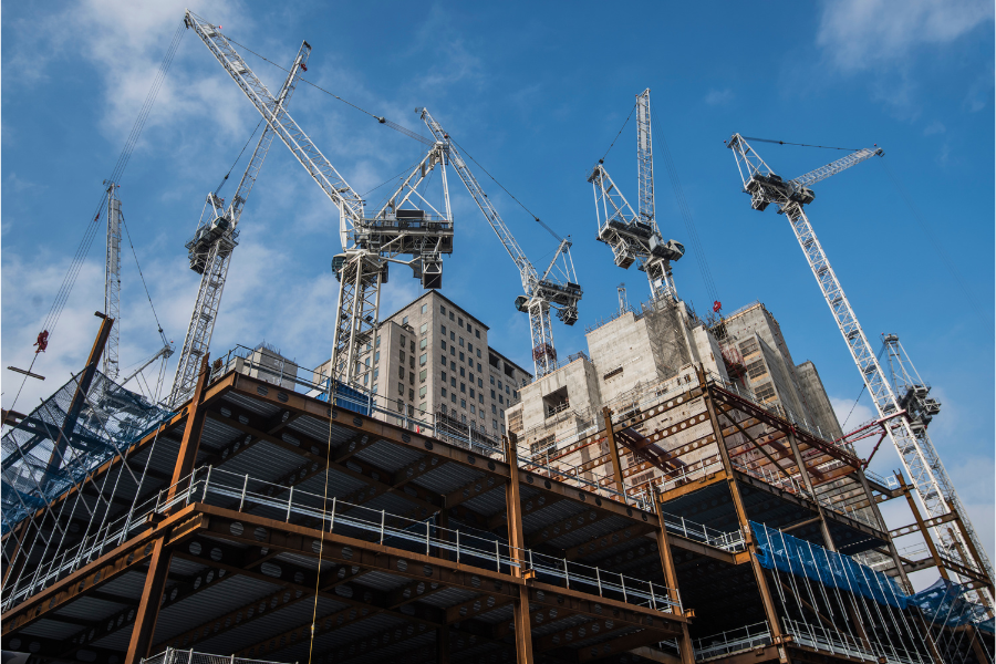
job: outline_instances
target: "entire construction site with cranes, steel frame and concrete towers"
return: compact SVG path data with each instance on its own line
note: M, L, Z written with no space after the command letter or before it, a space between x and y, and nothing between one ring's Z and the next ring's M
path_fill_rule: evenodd
M148 105L184 33L262 133L237 193L207 196L185 246L200 281L183 345L160 329L162 350L127 376L121 172L105 181L86 363L38 407L3 411L4 663L994 662L992 562L928 433L941 403L896 334L872 346L807 215L818 183L883 149L788 179L758 139L726 141L745 216L770 206L789 221L873 402L843 430L777 311L716 299L702 315L679 295L676 266L698 242L658 227L650 89L634 103L635 209L604 160L585 189L602 279L643 272L650 297L621 284L618 308L581 319L571 238L537 218L557 249L533 264L428 110L429 138L377 117L425 154L367 208L288 111L308 42L274 94L245 48L187 11ZM239 218L281 144L341 220L318 366L266 342L210 346ZM460 253L447 174L515 263L518 313L447 295L444 263ZM388 267L398 280L411 268L421 293L394 312L381 309ZM506 315L528 317L531 366L497 331ZM587 347L558 354L554 319L583 320ZM147 367L163 383L174 354L160 398L135 387ZM873 473L875 455L899 470ZM886 520L894 505L911 519ZM917 572L935 581L917 590Z

